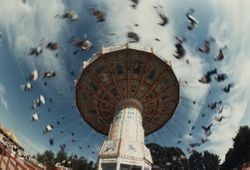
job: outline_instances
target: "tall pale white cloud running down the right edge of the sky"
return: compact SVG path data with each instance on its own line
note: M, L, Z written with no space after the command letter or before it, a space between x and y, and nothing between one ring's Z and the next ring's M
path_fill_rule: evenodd
M250 11L249 1L223 1L214 0L214 21L209 25L210 34L216 37L218 48L228 46L225 60L220 65L222 70L230 75L235 87L230 95L223 95L223 101L230 105L230 114L225 121L217 126L211 135L213 145L208 147L214 153L220 155L222 160L231 147L232 138L236 135L241 121L246 116L249 107L250 76ZM250 120L248 120L249 122Z

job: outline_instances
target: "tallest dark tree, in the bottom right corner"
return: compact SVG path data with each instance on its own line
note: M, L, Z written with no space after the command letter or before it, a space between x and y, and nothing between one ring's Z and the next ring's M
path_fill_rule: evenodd
M248 126L240 127L233 141L233 148L229 149L222 164L223 169L238 168L250 160L250 128Z

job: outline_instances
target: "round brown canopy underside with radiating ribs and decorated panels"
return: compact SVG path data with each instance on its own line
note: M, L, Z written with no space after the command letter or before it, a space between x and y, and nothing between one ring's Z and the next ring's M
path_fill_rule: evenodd
M179 84L171 67L152 52L109 48L86 66L76 85L77 107L96 131L109 132L115 108L134 98L143 106L145 135L161 128L179 102Z

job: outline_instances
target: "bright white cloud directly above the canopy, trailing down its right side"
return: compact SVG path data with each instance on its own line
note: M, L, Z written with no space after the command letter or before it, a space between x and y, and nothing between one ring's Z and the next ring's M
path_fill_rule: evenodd
M187 64L185 60L180 61L173 57L175 52L175 36L178 34L173 24L175 18L170 18L170 23L165 27L159 26L158 23L161 20L154 8L154 6L159 6L158 2L140 1L136 10L130 7L129 1L108 1L107 3L107 6L109 7L108 11L110 13L108 16L109 18L107 19L109 30L110 32L118 33L119 35L115 38L111 37L109 39L110 44L121 44L127 42L126 33L129 31L138 33L140 36L138 46L145 48L153 47L156 55L171 61L177 78L182 81L183 84L184 81L188 81L190 84L195 84L195 88L183 90L183 96L192 96L194 100L200 100L201 97L204 98L208 91L208 86L202 86L197 83L197 80L201 77L201 72L204 69L204 66L200 64L203 62L203 59L200 59L200 57L193 53L193 50L189 47L185 47L187 51L185 58L190 60L190 64ZM161 3L160 5L163 6L160 11L168 15L168 9L171 9L171 6L166 5L166 3ZM126 6L126 8L124 8L124 6ZM134 27L134 24L138 24L139 26ZM155 41L155 38L159 38L161 41L157 42ZM186 46L185 43L184 46Z

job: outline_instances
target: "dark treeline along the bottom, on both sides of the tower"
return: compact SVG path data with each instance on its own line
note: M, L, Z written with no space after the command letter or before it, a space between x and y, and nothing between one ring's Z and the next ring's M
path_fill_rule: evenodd
M241 169L242 165L250 162L250 128L242 126L235 138L233 147L226 153L225 161L220 164L219 156L208 151L203 153L193 151L189 157L177 147L162 147L155 143L147 144L153 158L153 169L160 170L233 170ZM54 169L56 163L61 163L73 170L94 170L97 165L84 157L68 156L61 149L55 156L52 151L45 151L34 156L48 169Z

